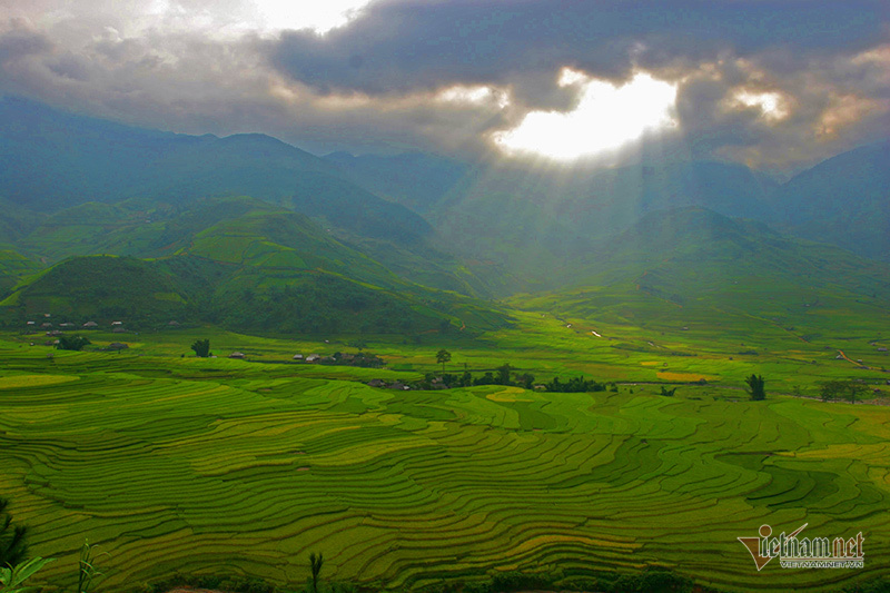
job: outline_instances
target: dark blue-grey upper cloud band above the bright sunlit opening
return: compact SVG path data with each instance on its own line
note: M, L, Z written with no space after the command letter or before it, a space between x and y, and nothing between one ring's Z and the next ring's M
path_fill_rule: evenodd
M563 66L622 78L634 63L696 63L724 50L777 50L775 60L795 63L871 47L887 37L887 21L886 0L390 0L326 36L285 32L267 51L320 92L385 95L535 72L543 81Z

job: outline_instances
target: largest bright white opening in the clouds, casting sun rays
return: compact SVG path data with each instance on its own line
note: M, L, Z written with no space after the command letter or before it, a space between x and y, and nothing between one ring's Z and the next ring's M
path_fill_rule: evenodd
M572 160L620 148L646 131L676 127L676 86L649 75L637 73L615 87L564 69L560 85L581 85L573 111L532 111L516 128L496 132L494 142L508 154Z

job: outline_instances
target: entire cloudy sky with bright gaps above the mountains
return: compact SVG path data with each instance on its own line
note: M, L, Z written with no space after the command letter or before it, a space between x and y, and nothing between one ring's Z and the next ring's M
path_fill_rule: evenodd
M315 154L781 175L890 136L890 2L0 0L0 93Z

